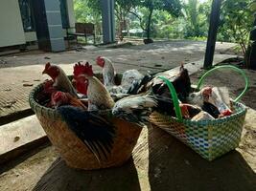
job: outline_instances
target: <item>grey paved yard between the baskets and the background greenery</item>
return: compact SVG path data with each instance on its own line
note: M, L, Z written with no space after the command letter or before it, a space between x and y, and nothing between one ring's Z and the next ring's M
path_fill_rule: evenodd
M215 53L235 54L232 51L234 43L217 43ZM1 56L6 61L0 64L1 68L10 68L26 65L44 65L46 62L56 64L70 64L79 60L88 60L95 63L99 55L105 55L117 64L130 64L131 66L155 67L171 69L180 62L193 62L204 57L206 43L192 40L156 41L148 45L128 46L125 48L97 48L85 46L84 49L61 53L44 53L33 51Z

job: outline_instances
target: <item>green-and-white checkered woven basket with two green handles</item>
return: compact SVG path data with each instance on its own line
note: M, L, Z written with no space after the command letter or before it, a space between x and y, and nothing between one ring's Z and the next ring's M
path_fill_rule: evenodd
M195 150L202 158L213 160L238 147L244 126L246 107L238 100L244 95L248 87L248 79L244 72L234 66L219 66L202 75L198 82L198 90L203 79L217 69L233 69L244 76L245 88L243 93L231 104L235 114L229 117L214 120L191 121L183 119L178 105L173 84L165 77L159 76L167 83L175 103L176 117L165 116L154 112L151 114L151 123L160 127L167 133L178 138L183 143Z

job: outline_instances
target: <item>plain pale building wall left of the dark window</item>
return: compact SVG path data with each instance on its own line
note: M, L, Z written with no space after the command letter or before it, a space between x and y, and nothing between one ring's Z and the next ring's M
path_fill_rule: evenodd
M0 1L0 47L25 43L18 0Z

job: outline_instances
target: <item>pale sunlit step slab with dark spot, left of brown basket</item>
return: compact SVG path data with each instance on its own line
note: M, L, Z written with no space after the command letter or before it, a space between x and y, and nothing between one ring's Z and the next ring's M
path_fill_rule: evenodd
M0 126L0 163L24 154L48 141L39 121L25 117Z

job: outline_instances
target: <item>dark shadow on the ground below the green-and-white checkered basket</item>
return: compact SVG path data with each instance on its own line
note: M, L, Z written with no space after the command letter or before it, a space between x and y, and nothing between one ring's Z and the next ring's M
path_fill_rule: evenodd
M207 161L158 128L149 131L149 149L152 191L256 190L256 175L237 151Z

